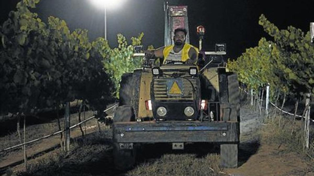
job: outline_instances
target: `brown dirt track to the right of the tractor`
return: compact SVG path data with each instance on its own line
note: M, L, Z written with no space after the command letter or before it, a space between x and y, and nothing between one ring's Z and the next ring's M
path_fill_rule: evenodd
M226 169L235 176L258 175L314 175L307 171L311 166L296 153L285 153L280 145L266 145L261 142L259 129L263 118L250 108L241 108L241 135L239 146L239 167Z

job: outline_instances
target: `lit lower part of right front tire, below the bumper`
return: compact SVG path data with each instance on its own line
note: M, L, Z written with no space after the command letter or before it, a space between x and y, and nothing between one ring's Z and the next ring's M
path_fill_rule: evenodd
M220 165L224 168L238 167L238 144L220 145Z

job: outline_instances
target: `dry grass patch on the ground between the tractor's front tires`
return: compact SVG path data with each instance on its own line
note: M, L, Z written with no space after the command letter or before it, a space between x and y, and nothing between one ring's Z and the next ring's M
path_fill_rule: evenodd
M160 159L144 162L129 175L219 175L219 155L164 154Z

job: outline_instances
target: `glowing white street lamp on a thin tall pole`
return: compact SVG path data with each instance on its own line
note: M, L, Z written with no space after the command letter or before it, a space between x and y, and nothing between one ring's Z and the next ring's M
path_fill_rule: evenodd
M107 40L107 8L118 8L125 0L90 0L97 8L105 11L105 40Z

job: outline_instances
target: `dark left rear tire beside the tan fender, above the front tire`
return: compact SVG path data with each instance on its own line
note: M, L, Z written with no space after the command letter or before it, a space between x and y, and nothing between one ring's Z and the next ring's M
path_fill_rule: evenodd
M119 91L119 106L132 106L133 98L133 73L125 73L121 77Z

